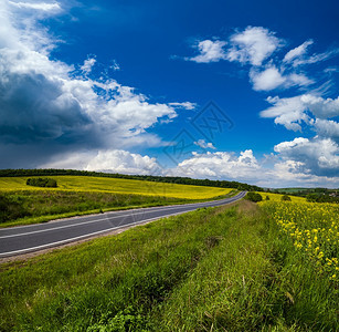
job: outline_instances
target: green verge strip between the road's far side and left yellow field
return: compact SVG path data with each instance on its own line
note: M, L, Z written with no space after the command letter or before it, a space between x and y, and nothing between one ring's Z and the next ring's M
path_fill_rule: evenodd
M115 209L190 203L161 196L99 191L19 190L0 195L0 227L30 225L52 219Z

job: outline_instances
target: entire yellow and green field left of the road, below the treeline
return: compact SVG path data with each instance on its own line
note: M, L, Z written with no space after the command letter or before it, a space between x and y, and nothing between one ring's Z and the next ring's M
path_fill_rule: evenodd
M0 177L0 227L114 209L184 204L235 193L224 188L133 179L88 176L51 178L57 181L57 188L28 186L27 177Z

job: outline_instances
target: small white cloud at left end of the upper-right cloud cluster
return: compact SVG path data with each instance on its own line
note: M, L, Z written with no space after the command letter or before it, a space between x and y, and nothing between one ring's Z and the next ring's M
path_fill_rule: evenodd
M203 40L195 45L199 55L192 58L184 58L187 61L193 61L198 63L209 63L209 62L218 62L220 60L225 60L225 51L224 45L226 42L220 40Z

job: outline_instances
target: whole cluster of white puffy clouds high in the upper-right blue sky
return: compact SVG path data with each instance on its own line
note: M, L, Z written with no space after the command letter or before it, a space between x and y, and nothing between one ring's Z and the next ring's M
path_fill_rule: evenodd
M255 91L286 90L293 86L305 90L315 81L300 70L296 70L296 66L322 61L339 52L339 49L331 50L306 59L307 48L312 43L312 40L308 40L288 51L283 60L278 60L273 58L273 54L285 45L285 41L275 37L275 33L268 29L247 27L244 31L239 31L230 37L227 49L224 41L203 40L194 45L200 54L184 58L184 60L198 63L220 60L240 62L241 64L248 63L251 65L250 80ZM179 56L172 56L172 59L177 58Z

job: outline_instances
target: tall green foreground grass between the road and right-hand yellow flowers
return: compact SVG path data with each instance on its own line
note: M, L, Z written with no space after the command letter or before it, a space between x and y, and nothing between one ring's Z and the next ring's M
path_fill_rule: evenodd
M0 267L1 331L336 331L338 290L251 203Z

